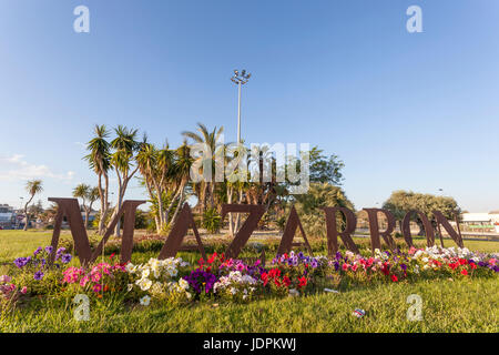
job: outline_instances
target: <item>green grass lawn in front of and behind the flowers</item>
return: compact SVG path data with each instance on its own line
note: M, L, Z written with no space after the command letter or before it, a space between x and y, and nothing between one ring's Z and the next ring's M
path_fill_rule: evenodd
M69 234L64 237L70 237ZM0 262L50 243L50 232L0 231ZM415 240L424 244L424 240ZM357 241L356 241L357 242ZM446 241L447 242L447 241ZM451 241L448 241L449 246ZM499 243L465 241L472 251L497 252ZM195 255L192 256L194 260ZM156 253L134 253L146 260ZM189 257L187 257L189 258ZM0 266L0 274L11 266ZM3 271L2 271L3 268ZM0 316L0 332L499 332L499 280L421 280L352 286L339 294L255 301L248 305L129 306L103 298L90 321L73 318L72 300L43 296ZM422 321L410 322L407 297L422 298ZM366 316L352 315L355 308Z

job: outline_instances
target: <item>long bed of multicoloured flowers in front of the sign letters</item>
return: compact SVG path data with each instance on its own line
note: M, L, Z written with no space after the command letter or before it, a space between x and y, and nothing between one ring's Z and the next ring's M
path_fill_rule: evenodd
M61 248L49 263L50 247L14 261L12 275L0 276L0 300L10 304L33 296L68 297L86 294L93 298L118 297L134 305L187 304L212 300L247 303L263 297L299 296L347 288L352 284L407 283L420 278L496 277L497 256L467 248L381 252L371 256L338 252L333 260L303 253L284 254L268 265L212 254L189 265L182 258L150 258L144 264L101 262L88 267L68 266L71 255Z

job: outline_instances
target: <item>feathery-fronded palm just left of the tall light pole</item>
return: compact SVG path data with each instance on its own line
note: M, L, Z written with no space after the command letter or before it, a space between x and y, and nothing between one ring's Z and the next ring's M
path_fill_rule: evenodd
M194 143L204 144L205 148L210 150L210 152L211 152L211 158L210 158L211 161L210 162L205 161L205 159L206 159L205 156L200 156L195 163L198 164L200 166L202 166L203 175L205 175L205 173L206 173L204 171L205 166L211 166L211 169L212 169L211 176L213 176L213 171L214 171L214 166L215 166L214 156L220 154L218 150L221 148L223 149L223 144L221 142L218 142L218 140L220 140L221 134L224 131L224 128L221 126L217 130L215 126L214 130L212 132L210 132L203 123L197 123L197 131L200 133L185 131L185 132L182 132L182 134L185 138L193 140ZM201 184L202 184L202 194L201 194L200 201L201 201L202 211L204 212L206 210L206 192L208 191L208 189L210 189L211 206L213 207L213 205L214 205L215 182L202 181Z

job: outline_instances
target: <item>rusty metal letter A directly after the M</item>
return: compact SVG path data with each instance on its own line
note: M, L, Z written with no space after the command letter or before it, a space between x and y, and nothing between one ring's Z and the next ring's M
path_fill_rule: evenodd
M192 227L194 235L196 236L197 250L200 251L201 256L203 257L203 260L207 260L203 243L201 242L200 233L197 233L196 224L194 223L191 207L187 203L183 205L182 211L179 214L179 219L173 225L172 231L169 234L169 239L166 240L160 252L160 260L175 257L182 245L182 241L187 233L189 227Z

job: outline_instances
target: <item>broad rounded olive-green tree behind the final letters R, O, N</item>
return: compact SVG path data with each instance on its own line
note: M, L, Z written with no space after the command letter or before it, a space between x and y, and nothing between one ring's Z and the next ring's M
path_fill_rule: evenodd
M383 209L390 211L395 215L395 219L399 222L400 231L404 216L413 210L419 210L428 216L434 227L436 227L434 211L440 211L448 220L454 220L456 214L459 215L461 212L458 203L452 197L403 190L394 191L383 204ZM425 229L419 217L416 219L416 223L419 226L418 235L424 235Z

